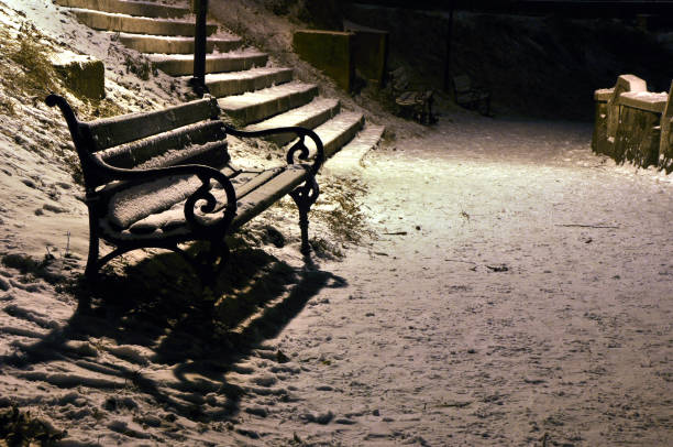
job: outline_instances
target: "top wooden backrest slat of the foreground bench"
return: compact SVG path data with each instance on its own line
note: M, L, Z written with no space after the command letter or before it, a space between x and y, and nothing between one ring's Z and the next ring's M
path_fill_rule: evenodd
M154 112L139 112L106 118L84 124L90 132L97 152L131 141L152 137L176 128L192 124L219 115L217 100L203 98Z

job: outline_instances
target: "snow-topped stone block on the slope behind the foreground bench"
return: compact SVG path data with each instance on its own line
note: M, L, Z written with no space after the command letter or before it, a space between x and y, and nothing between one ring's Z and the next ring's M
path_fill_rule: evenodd
M51 62L73 92L90 99L104 98L106 68L102 61L66 51L53 54Z

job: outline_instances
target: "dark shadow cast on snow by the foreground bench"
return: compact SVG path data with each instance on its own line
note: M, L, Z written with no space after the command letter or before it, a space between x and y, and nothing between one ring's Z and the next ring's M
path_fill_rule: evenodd
M306 261L304 269L294 269L262 250L240 248L232 252L213 292L206 291L209 296L203 297L194 271L178 255L159 253L124 268L123 275L102 274L93 288L79 284L80 305L67 325L5 360L25 367L67 358L97 375L109 373L132 382L184 417L224 421L238 413L240 396L247 391L228 383L225 374L241 372L236 362L249 355L262 352L267 361L288 361L285 353L262 344L276 337L323 287L346 285ZM134 358L109 351L125 360L110 361L100 355L82 356L67 345L101 339L146 348L153 355ZM144 373L142 367L148 363L170 368L174 380L166 385ZM207 401L209 393L218 399Z

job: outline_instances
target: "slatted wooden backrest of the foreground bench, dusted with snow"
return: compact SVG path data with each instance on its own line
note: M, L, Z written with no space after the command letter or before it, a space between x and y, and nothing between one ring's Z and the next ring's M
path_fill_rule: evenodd
M206 97L159 111L80 122L79 131L84 149L115 167L221 167L229 154L219 113L217 100Z

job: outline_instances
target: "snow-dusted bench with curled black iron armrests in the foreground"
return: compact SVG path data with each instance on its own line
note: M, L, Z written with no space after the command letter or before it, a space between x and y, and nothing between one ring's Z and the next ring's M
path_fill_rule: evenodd
M318 198L316 174L324 160L313 131L235 130L219 119L218 102L209 96L90 122L79 121L60 96L49 95L46 103L60 108L81 163L90 229L87 277L128 251L162 248L183 254L197 273L211 280L229 254L224 236L286 194L299 208L301 251L308 253L308 211ZM288 150L287 164L251 172L232 163L228 134L288 132L298 140ZM307 137L315 143L310 151ZM101 239L114 249L99 258ZM179 248L196 240L207 241L208 250L192 257Z

